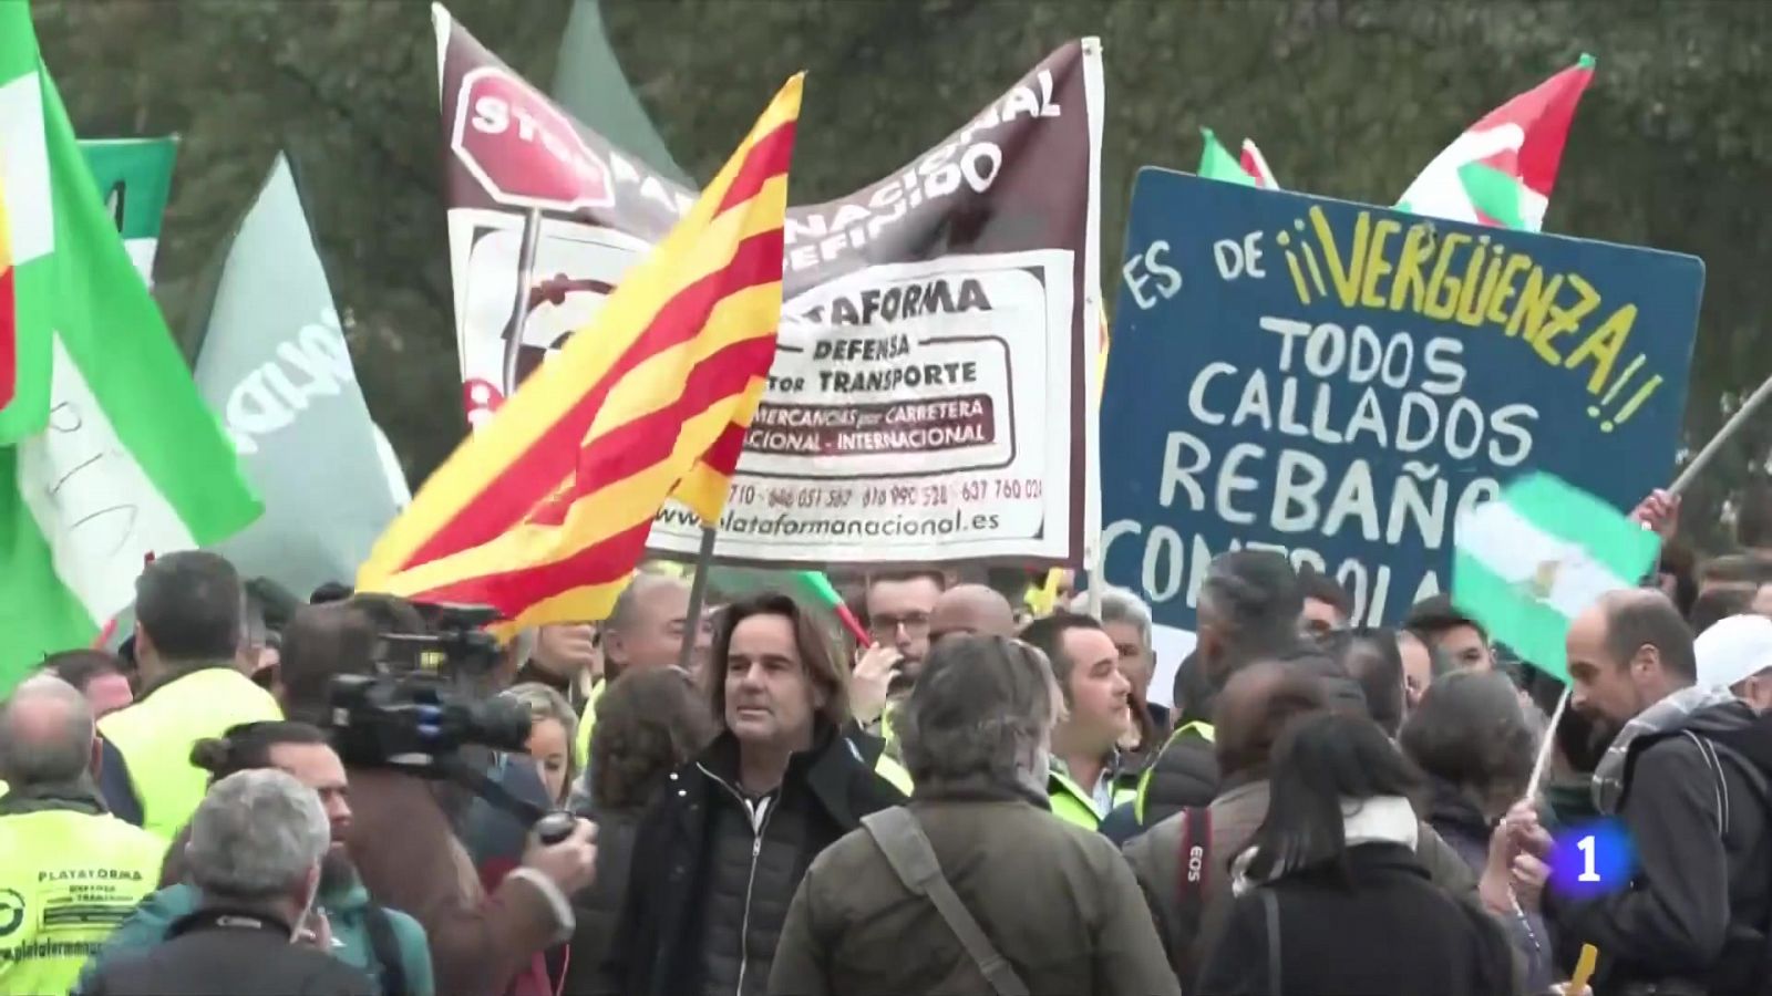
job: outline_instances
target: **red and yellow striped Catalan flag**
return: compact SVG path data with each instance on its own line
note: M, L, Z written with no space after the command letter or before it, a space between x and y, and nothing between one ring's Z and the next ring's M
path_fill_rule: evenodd
M774 360L803 76L595 321L462 443L376 542L358 590L604 619L677 498L714 523Z

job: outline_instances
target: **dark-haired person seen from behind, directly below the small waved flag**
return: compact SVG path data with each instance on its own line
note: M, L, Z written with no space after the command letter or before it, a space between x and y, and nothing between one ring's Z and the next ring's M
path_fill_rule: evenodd
M1435 681L1403 723L1398 744L1428 776L1426 822L1476 875L1490 860L1496 824L1526 794L1542 735L1499 672L1455 672ZM1503 899L1494 907L1506 911L1527 989L1545 991L1554 978L1543 920Z

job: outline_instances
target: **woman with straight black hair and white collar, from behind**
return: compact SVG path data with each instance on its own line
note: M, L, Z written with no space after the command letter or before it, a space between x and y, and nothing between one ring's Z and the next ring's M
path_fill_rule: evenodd
M1313 712L1274 748L1267 819L1232 865L1237 900L1207 996L1503 996L1501 927L1416 861L1419 774L1370 720Z

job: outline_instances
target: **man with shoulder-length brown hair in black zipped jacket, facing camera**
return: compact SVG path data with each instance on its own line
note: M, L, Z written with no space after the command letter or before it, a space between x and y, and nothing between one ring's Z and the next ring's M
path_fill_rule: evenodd
M843 672L794 599L728 606L709 665L723 732L640 824L599 992L762 994L806 867L904 801L840 735Z

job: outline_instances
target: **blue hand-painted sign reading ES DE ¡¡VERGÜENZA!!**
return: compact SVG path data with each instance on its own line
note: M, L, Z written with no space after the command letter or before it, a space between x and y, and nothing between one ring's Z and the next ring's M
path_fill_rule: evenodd
M1145 168L1100 409L1108 581L1193 627L1210 560L1267 546L1395 622L1519 473L1628 509L1673 468L1703 284L1689 255Z

